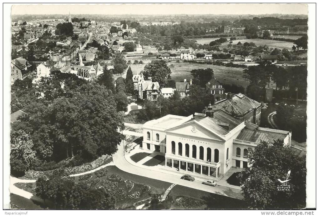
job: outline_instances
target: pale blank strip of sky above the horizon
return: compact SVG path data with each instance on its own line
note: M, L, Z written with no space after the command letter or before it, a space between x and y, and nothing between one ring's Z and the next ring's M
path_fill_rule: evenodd
M16 4L12 14L308 14L307 4Z

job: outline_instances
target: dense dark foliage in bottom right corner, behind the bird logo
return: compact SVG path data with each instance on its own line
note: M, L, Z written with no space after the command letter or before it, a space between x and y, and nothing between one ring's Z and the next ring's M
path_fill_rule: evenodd
M282 140L262 142L249 150L251 167L241 172L241 190L250 208L302 209L306 205L306 157L298 157ZM282 191L278 179L286 180L290 190ZM253 190L252 190L253 189Z

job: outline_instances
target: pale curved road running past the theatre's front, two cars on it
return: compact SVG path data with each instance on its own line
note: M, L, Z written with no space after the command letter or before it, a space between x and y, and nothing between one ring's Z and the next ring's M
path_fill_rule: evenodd
M124 131L123 131L124 134ZM194 182L189 182L186 180L181 179L180 173L174 173L174 172L168 172L166 170L159 170L158 168L141 168L136 163L128 162L129 158L124 157L123 153L123 144L118 146L118 150L116 153L113 154L113 161L117 168L131 173L135 175L140 175L152 179L157 179L165 182L170 182L172 184L178 184L190 188L196 188L197 190L203 190L211 193L216 193L219 195L227 196L227 197L233 197L237 199L243 199L243 196L241 195L240 190L236 190L233 188L228 188L224 186L216 186L216 187L210 187L208 185L202 184L202 181L195 180Z

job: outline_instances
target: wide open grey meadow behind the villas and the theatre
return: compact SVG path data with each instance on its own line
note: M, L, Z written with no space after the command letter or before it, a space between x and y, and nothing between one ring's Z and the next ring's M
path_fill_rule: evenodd
M242 68L232 68L211 64L196 64L196 63L184 63L184 62L169 62L168 67L171 69L171 77L176 82L183 82L186 78L187 81L193 79L190 74L191 70L194 69L206 69L211 68L214 71L215 78L219 80L222 84L235 84L243 87L247 87L249 82L242 78L243 70ZM207 80L208 82L209 80Z

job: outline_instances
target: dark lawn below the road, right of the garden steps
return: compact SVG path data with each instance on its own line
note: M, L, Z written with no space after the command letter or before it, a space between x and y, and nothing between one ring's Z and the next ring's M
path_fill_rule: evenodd
M189 206L180 202L178 197L191 197L197 203L200 203L199 206L192 206L189 203ZM171 209L247 209L247 205L243 200L235 199L231 197L226 197L214 193L205 192L202 190L197 190L182 185L176 185L171 192L168 194L168 197L172 197L173 203Z

